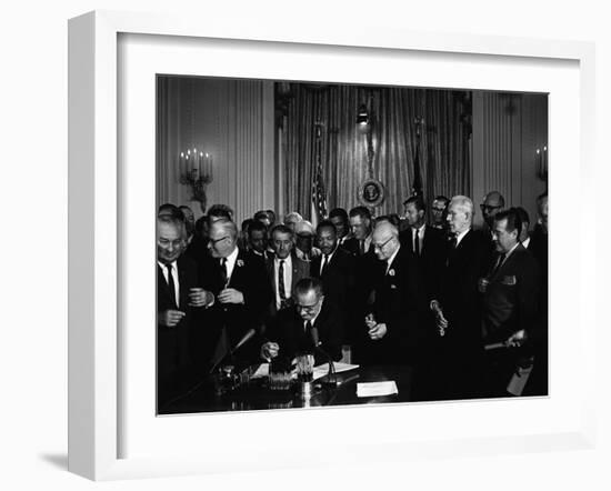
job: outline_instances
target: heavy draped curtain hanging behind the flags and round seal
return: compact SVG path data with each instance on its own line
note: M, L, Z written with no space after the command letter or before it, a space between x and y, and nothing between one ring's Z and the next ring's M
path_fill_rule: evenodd
M361 104L372 118L372 177L385 188L375 214L397 213L411 194L417 148L414 119L424 118L420 172L425 199L471 193L469 139L470 93L464 91L357 86L277 86L282 127L284 208L311 218L315 172L315 123L321 127L321 161L328 209L360 204L368 179L367 136L355 124Z

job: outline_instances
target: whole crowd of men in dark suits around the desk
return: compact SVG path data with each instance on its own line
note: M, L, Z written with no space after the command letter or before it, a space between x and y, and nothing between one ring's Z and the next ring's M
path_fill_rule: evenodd
M480 207L474 230L463 196L430 210L411 197L403 217L335 208L315 228L298 212L238 228L223 204L197 221L161 206L159 403L223 363L300 353L409 365L418 400L545 394L547 193L533 228L497 191Z

